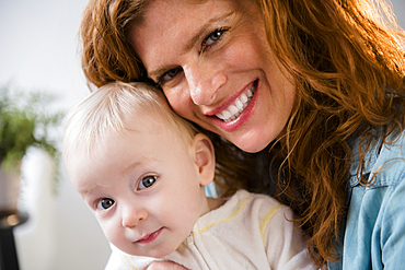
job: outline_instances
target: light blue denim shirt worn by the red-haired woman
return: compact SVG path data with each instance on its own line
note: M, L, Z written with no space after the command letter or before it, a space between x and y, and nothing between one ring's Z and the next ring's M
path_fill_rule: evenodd
M343 246L336 245L340 260L328 262L328 269L405 269L405 139L404 133L396 137L393 144L380 149L375 143L367 153L362 175L374 176L369 187L359 184L359 139L352 142L348 213Z

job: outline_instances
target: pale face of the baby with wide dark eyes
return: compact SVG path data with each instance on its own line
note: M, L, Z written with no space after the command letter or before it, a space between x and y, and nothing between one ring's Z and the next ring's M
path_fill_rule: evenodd
M68 174L113 245L161 258L206 211L199 169L192 143L184 145L155 118L129 126L134 130L111 134L91 159L70 161Z

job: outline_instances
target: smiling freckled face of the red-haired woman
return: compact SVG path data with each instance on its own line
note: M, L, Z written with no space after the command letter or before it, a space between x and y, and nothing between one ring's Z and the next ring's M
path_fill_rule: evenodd
M296 91L255 3L155 0L129 38L178 115L251 153L281 134Z

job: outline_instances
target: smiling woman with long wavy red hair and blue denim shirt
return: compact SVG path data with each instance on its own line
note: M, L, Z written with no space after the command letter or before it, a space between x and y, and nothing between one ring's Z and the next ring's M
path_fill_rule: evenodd
M395 268L405 50L377 2L92 0L83 70L95 86L152 80L181 116L268 152L320 266Z

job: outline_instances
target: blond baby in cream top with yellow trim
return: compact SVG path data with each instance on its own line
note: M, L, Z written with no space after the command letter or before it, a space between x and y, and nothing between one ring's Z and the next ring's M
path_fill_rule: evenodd
M63 162L112 244L106 269L316 269L288 207L239 190L208 198L209 138L143 83L111 83L66 118Z

